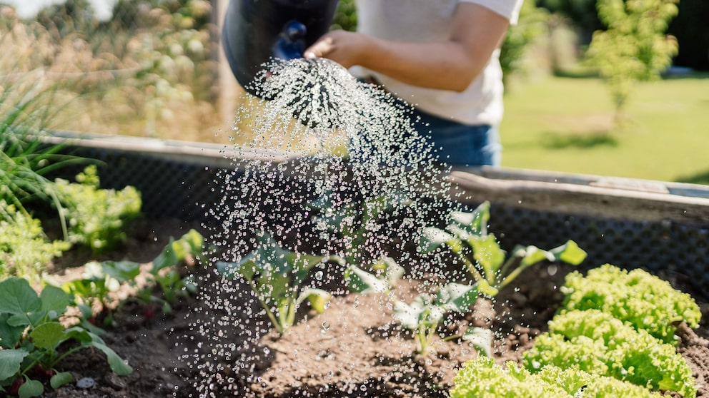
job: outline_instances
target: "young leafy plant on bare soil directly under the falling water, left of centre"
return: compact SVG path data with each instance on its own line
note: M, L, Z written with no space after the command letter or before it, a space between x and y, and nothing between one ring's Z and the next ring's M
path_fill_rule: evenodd
M249 283L276 330L283 335L295 322L304 300L322 314L332 297L321 289L303 288L313 267L327 261L342 262L334 255L307 255L282 248L270 235L259 237L257 250L239 262L217 262L219 274L227 279L242 277Z

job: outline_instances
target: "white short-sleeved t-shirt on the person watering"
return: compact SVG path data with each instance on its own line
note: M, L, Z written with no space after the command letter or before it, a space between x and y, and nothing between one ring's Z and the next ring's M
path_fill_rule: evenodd
M357 0L357 31L391 41L446 41L459 2L485 6L517 23L522 0ZM420 110L470 125L497 125L502 120L500 50L492 53L480 76L465 91L411 86L365 68L357 76L373 76L387 91Z

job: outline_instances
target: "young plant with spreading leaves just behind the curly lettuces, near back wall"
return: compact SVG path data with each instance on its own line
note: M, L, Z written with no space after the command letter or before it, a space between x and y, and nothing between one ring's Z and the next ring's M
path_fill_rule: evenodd
M490 202L484 202L470 213L453 211L446 230L427 227L423 230L419 250L432 252L446 246L465 264L475 277L477 289L485 295L495 296L528 267L542 261L562 261L578 265L586 258L573 240L552 250L535 246L517 245L505 261L505 251L500 248L495 235L487 233L490 220Z

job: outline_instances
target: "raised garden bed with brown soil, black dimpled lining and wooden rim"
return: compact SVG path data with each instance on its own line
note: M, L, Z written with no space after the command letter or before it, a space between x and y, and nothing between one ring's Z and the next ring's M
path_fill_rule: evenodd
M169 236L179 237L193 227L209 234L202 227L209 227L210 220L201 205L219 202L214 175L229 167L219 153L222 148L199 148L182 160L174 153L184 152L162 145L76 149L108 163L101 173L106 186L134 185L144 195L149 223L139 238L109 256L148 262ZM590 184L586 176L561 182L560 177L569 176L515 175L513 170L452 174L463 193L459 198L492 201L490 230L503 248L550 248L570 238L589 254L582 270L604 262L643 267L693 295L704 323L696 334L685 330L678 350L695 373L698 396L709 394L706 191L683 185L691 196L678 195L675 186L648 193L617 184L593 186L598 184ZM63 265L79 262L62 260ZM520 275L516 290L502 290L495 302L479 300L475 311L448 325L489 326L495 332L495 359L518 361L547 329L562 301L559 287L572 269L558 264L530 268ZM79 270L56 272L69 277ZM346 294L342 282L333 282L332 290L339 294L326 312L300 313L292 330L278 337L247 286L222 285L209 265L192 272L200 277L202 293L183 302L173 316L149 319L137 307L116 313L117 326L104 340L132 364L132 375L116 377L98 352L78 352L64 366L77 380L93 379L93 387L69 384L46 396L445 397L455 370L476 355L473 347L457 342L436 345L427 356L415 354L412 336L395 326L387 300ZM433 272L397 289L402 296L413 296L436 277ZM222 295L229 297L228 306L210 304Z

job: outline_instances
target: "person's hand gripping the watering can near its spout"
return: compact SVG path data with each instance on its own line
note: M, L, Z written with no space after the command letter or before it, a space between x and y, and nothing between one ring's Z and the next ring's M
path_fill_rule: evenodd
M361 65L375 39L349 31L331 31L324 34L304 51L305 58L328 58L345 68Z

